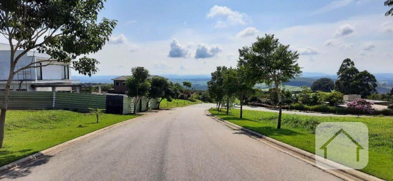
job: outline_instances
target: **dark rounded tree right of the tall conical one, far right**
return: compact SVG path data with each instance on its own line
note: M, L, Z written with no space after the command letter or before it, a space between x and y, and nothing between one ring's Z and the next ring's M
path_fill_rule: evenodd
M359 94L362 98L366 98L370 94L376 93L376 78L368 71L362 71L356 74L351 82L351 89L353 94Z

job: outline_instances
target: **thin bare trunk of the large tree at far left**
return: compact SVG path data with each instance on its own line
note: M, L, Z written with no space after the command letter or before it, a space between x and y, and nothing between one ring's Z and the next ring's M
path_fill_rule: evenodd
M13 60L13 55L11 55L11 60ZM10 92L10 89L11 89L12 80L14 79L14 68L15 67L14 67L13 63L11 63L6 89L4 90L3 103L2 103L2 106L1 106L1 112L0 112L0 148L3 147L4 125L6 123L6 112L7 112L8 101L9 101L9 92Z

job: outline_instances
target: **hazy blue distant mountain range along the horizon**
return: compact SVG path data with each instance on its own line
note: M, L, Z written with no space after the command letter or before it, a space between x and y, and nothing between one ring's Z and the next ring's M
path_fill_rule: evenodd
M72 76L73 79L78 79L82 83L113 83L111 79L119 77L120 75L113 76ZM166 77L169 81L174 83L182 84L183 81L191 81L193 88L196 90L206 90L208 88L207 82L210 80L210 74L193 74L193 75L176 75L176 74L161 74L160 76ZM378 80L377 90L380 93L389 92L393 87L393 73L378 73L374 74ZM337 79L337 75L325 74L320 72L303 72L301 77L294 78L289 82L285 83L287 87L296 90L296 87L308 86L319 78L331 78L332 80ZM258 84L256 87L266 89L266 85Z

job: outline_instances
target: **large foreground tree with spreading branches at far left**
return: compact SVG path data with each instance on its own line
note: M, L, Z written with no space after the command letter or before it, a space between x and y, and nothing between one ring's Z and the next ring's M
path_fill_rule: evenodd
M105 0L2 0L0 1L0 34L10 45L9 78L0 113L0 148L13 77L20 71L48 65L64 65L81 55L102 49L109 40L116 20L97 22ZM17 67L29 51L50 55L47 60ZM57 60L57 61L53 61ZM72 62L73 69L91 76L98 71L94 58L83 56Z

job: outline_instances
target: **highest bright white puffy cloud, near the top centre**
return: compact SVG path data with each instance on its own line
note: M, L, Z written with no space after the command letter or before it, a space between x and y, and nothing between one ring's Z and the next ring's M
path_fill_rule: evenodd
M248 15L244 13L239 13L237 11L232 11L226 6L213 6L209 13L206 14L206 18L217 17L216 25L217 28L223 28L228 25L245 25L247 24Z

